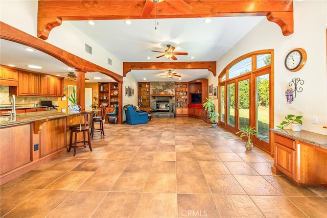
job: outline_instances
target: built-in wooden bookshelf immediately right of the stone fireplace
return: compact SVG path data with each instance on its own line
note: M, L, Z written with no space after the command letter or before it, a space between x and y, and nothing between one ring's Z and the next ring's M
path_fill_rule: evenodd
M189 115L188 83L176 82L176 116Z

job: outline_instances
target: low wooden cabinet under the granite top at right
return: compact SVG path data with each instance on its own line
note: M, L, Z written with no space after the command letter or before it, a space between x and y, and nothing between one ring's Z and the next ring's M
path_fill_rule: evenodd
M302 136L308 133L301 132ZM284 174L299 186L327 187L326 149L276 133L273 134L273 146L274 165L271 170L274 174Z

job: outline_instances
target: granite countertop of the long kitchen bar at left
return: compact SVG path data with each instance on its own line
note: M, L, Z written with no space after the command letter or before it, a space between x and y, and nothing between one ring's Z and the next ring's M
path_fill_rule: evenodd
M55 119L65 116L71 116L74 114L79 114L80 112L58 112L58 110L48 110L48 111L38 111L29 113L17 113L16 117L0 116L0 127L30 123L43 119Z

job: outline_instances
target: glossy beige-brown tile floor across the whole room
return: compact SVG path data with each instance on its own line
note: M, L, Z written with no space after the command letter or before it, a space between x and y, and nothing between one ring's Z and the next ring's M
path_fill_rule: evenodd
M1 186L1 217L327 217L327 190L271 173L273 158L194 118L105 125Z

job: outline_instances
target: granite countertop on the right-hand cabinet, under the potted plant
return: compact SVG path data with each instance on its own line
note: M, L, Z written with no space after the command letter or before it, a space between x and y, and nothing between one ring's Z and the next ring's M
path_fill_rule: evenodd
M291 129L284 129L284 130L270 129L270 131L327 150L327 135L313 133L306 130L301 130L301 132L295 132L292 131Z

